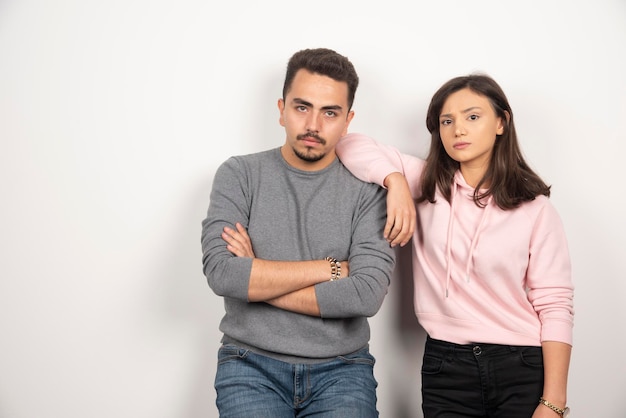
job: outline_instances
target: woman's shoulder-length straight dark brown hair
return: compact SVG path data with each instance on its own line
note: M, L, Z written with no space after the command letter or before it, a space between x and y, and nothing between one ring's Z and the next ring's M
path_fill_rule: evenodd
M466 88L486 97L504 125L502 135L498 135L495 141L489 167L474 190L476 204L483 207L486 204L483 199L493 196L494 202L506 210L533 200L539 195L550 196L550 186L546 185L524 160L515 133L513 111L504 92L491 77L472 74L451 79L441 86L431 99L426 115L426 127L431 133L430 151L422 175L422 193L417 202L434 203L437 188L448 202L451 201L454 174L460 165L450 158L443 147L439 117L448 97ZM485 184L489 185L486 191L479 193L479 189Z

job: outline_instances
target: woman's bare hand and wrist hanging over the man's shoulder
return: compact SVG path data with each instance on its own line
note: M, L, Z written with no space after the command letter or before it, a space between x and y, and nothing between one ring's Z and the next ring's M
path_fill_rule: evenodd
M417 223L415 201L402 173L391 173L385 178L387 188L387 223L384 236L392 247L404 247L415 232Z

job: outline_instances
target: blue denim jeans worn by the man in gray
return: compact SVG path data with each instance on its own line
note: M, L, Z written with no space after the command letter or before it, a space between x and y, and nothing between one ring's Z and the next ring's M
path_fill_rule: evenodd
M367 349L291 364L225 344L215 376L220 418L378 417L374 362Z

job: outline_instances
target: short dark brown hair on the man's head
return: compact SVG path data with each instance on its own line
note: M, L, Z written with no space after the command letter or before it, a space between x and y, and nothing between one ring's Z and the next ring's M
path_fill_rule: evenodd
M321 74L348 84L348 110L352 109L354 95L359 86L359 76L347 57L326 48L303 49L292 55L287 63L287 74L283 85L283 99L291 89L299 70Z

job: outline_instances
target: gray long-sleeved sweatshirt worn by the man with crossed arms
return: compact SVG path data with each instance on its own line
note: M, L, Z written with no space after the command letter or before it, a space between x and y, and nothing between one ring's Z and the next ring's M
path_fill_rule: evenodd
M222 341L290 362L366 347L367 317L381 307L395 262L383 238L385 198L384 189L358 180L338 159L315 172L289 166L280 148L225 161L202 222L204 274L224 297ZM252 259L234 256L221 238L236 222L258 258L349 261L349 277L315 286L321 318L248 302Z

